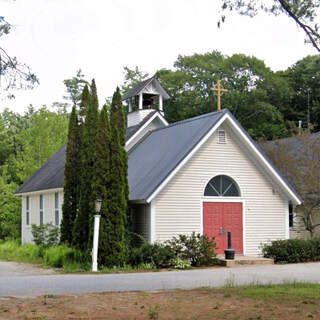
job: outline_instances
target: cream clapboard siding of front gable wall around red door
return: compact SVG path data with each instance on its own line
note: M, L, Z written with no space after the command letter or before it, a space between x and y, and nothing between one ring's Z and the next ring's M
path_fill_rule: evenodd
M286 237L287 203L261 169L240 147L231 129L223 125L226 143L218 131L198 150L155 198L155 240L178 234L200 233L203 192L214 176L225 174L239 185L245 210L246 254L261 253L261 244Z

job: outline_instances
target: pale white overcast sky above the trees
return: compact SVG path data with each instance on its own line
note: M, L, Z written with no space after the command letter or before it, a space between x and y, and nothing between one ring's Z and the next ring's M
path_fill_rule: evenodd
M284 15L228 13L218 28L220 6L220 0L0 0L0 16L13 25L0 46L40 80L13 100L2 94L0 112L65 102L63 80L78 69L95 78L102 105L123 83L124 66L153 75L173 69L178 55L218 50L255 56L277 71L317 54Z

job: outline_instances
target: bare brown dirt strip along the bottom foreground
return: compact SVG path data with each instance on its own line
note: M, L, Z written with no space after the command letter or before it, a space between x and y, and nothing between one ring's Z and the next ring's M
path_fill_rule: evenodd
M0 298L0 319L320 319L320 301L256 299L227 289Z

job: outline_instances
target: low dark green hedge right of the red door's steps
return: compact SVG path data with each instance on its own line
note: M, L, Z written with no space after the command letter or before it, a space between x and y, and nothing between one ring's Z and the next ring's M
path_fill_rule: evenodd
M320 261L320 238L272 241L262 252L277 263Z

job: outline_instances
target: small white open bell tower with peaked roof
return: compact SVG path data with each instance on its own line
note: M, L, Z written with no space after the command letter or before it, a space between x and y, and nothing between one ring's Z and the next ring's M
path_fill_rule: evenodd
M155 77L138 83L122 99L129 106L127 127L138 125L155 110L164 116L163 102L169 98L169 94Z

